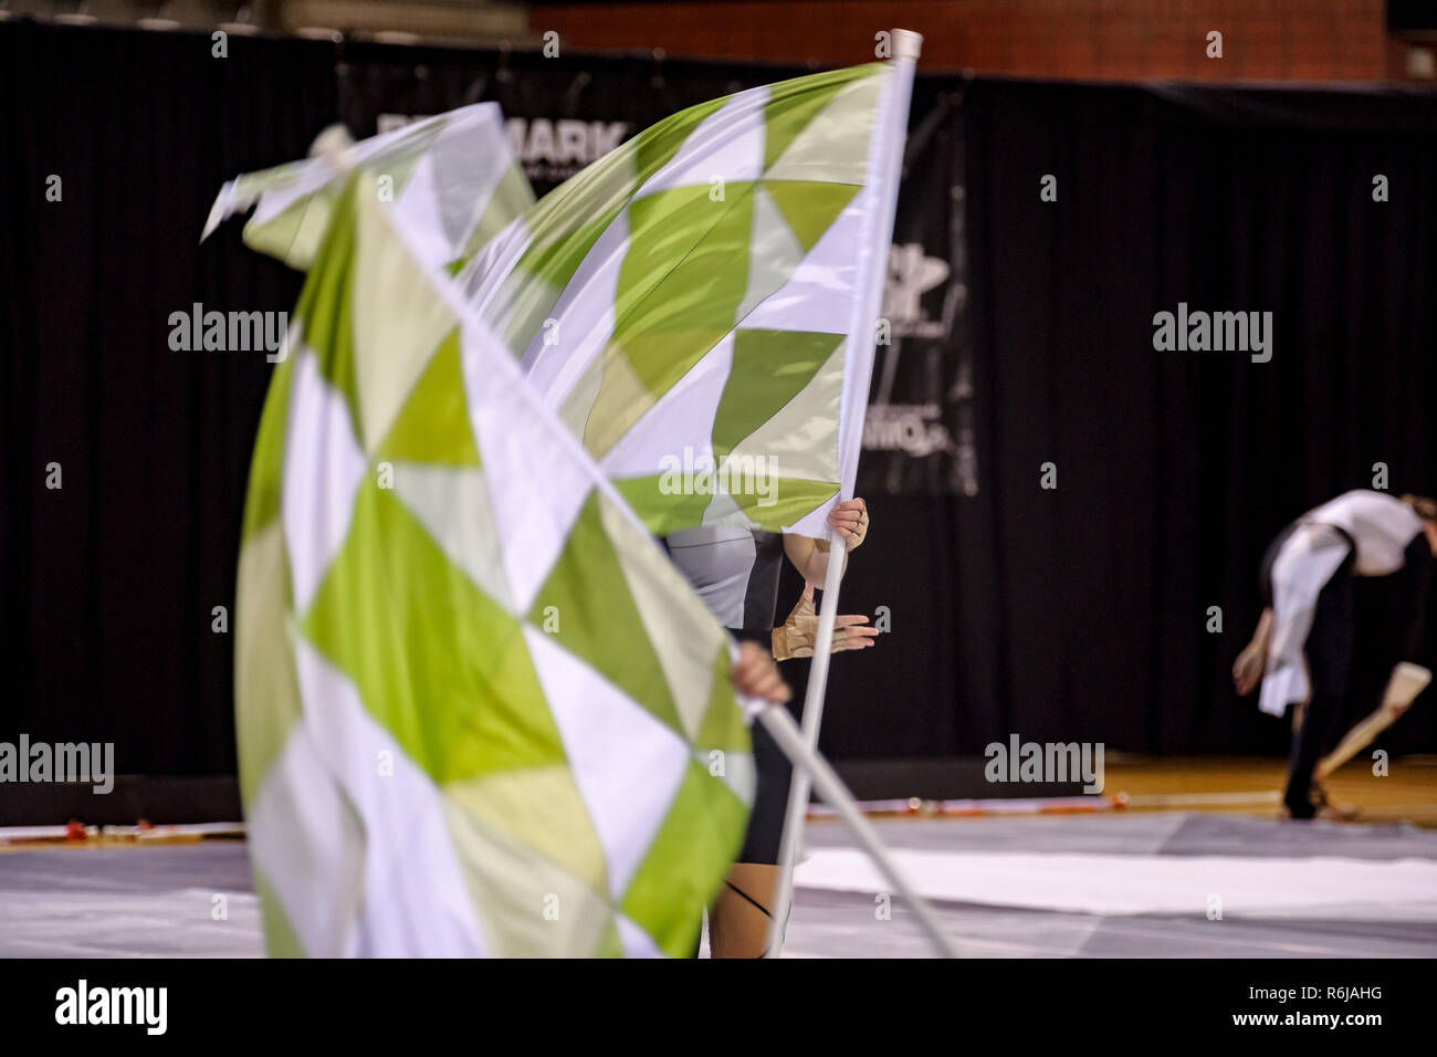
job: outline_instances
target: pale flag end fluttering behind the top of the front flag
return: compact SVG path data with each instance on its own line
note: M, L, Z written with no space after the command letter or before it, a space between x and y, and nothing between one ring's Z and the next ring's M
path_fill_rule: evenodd
M375 193L394 203L395 221L434 266L471 256L535 201L493 102L425 118L343 154L374 173ZM329 157L236 177L220 188L200 240L256 206L244 244L305 270L343 186L345 173Z

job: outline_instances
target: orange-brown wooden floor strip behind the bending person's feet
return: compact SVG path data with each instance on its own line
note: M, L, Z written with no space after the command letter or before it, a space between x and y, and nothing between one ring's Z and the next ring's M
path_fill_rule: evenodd
M1286 782L1283 759L1106 759L1109 797L1127 794L1127 808L1229 811L1272 818ZM1398 756L1384 777L1372 762L1348 764L1325 782L1335 804L1357 807L1358 821L1413 823L1437 828L1437 756Z

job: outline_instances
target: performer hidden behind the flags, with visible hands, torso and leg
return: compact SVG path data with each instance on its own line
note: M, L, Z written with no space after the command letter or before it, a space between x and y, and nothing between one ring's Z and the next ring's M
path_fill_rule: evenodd
M868 509L862 499L836 503L828 523L845 541L848 551L864 542ZM743 528L694 528L661 541L670 559L694 585L721 624L736 639L772 650L779 660L813 654L818 617L813 613L813 584L828 572L828 542L808 536ZM775 627L779 603L779 572L783 557L808 581L798 607ZM878 628L868 617L838 617L833 651L861 650L874 644ZM743 848L714 905L708 907L708 949L714 958L762 958L773 894L779 880L779 841L789 798L792 768L787 756L762 723L753 725L753 762L757 790Z

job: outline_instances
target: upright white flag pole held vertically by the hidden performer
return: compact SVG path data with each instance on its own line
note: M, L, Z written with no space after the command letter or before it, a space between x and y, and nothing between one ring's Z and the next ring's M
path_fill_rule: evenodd
M862 416L868 403L868 385L872 378L874 358L871 355L875 339L874 328L878 325L878 312L882 306L884 282L888 276L888 246L892 243L894 213L898 207L898 183L902 177L902 151L908 137L908 104L912 98L912 75L918 62L918 52L923 47L923 36L905 29L892 30L892 60L895 83L888 109L878 115L879 134L875 144L881 151L878 165L882 183L884 198L875 204L877 230L869 242L868 275L864 296L855 302L855 314L851 319L848 339L851 342L867 341L869 355L864 358L865 368L862 377L849 377L845 387L858 387L859 394L855 403L859 408L856 421L851 426L845 437L844 450L839 452L839 480L851 482L858 470L859 443L862 440ZM848 395L848 391L845 391ZM845 401L845 406L848 401ZM842 496L841 498L852 498ZM813 643L813 663L809 669L808 692L803 696L803 745L818 758L818 732L823 722L823 692L828 687L828 662L833 646L833 621L838 617L838 588L844 577L844 558L848 546L838 532L829 531L828 568L823 577L823 603L819 607L818 640ZM773 728L764 723L772 732ZM793 758L789 754L790 759ZM795 761L798 762L798 761ZM812 777L809 769L796 769L793 781L789 784L789 802L783 817L783 838L779 844L779 884L777 899L773 907L773 923L769 926L769 951L777 958L783 951L783 928L787 923L789 907L793 903L793 864L798 859L799 840L803 833L803 818L808 814L808 800L812 791ZM828 797L822 788L819 795ZM833 805L836 808L836 804ZM856 830L855 830L856 831ZM869 830L871 833L871 830ZM875 837L877 840L877 837ZM881 847L881 846L878 846ZM869 854L874 854L869 848ZM878 860L878 856L874 854ZM881 864L881 863L879 863ZM905 886L898 886L904 889Z

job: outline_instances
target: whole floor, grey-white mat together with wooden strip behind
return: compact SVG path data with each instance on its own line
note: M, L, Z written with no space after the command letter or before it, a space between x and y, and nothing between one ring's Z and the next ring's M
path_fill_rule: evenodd
M1066 798L1069 811L1035 800L874 827L973 956L1437 956L1437 758L1395 759L1381 778L1341 771L1329 795L1362 810L1352 825L1273 821L1280 759L1108 754L1104 771L1104 792ZM111 830L66 843L56 828L60 843L0 854L0 958L263 953L244 841ZM805 846L786 956L931 955L904 906L875 918L887 879L844 825L809 825Z

